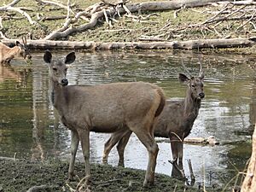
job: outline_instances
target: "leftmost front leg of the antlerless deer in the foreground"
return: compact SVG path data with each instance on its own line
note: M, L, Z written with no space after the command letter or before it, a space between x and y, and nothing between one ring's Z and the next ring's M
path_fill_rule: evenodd
M74 162L79 147L79 135L77 131L71 131L71 159L68 168L68 179L73 180L74 177Z

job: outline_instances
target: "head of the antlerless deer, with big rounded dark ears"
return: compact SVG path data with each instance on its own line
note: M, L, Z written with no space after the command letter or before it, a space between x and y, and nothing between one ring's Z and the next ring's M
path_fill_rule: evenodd
M63 61L52 60L52 55L49 50L44 53L44 61L49 63L49 76L55 82L55 84L61 84L66 86L68 84L67 76L67 64L75 61L76 55L74 52L69 53Z

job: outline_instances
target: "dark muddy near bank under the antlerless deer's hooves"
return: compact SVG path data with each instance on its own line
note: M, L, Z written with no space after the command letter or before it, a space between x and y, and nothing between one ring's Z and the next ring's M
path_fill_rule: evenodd
M203 191L198 187L185 187L182 181L166 175L156 174L155 185L144 189L144 171L114 166L92 165L92 191ZM84 164L76 163L77 181L67 183L68 162L47 160L0 160L0 191L21 192L33 186L43 189L32 191L71 191L75 189L84 175ZM207 191L221 191L207 189Z

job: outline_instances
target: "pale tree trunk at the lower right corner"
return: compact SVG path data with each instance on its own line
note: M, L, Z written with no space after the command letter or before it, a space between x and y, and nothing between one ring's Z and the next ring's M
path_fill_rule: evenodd
M241 192L256 191L256 125L253 132L252 156L247 168L247 175L241 185Z

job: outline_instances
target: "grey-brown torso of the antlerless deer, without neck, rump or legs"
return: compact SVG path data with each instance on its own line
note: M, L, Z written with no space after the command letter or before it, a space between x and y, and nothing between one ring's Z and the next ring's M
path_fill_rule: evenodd
M94 131L107 132L125 127L131 119L143 119L153 105L159 105L155 100L162 91L143 82L70 85L64 89L67 108L62 111L69 124L79 122L82 126L86 122Z

